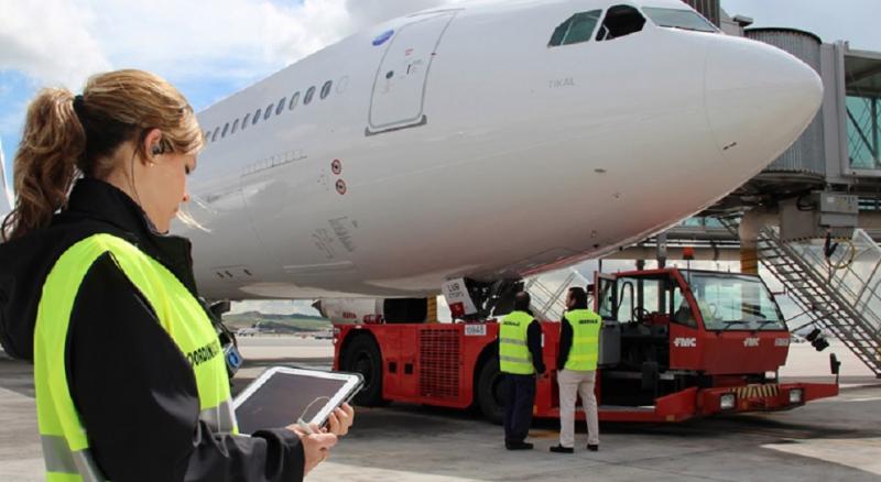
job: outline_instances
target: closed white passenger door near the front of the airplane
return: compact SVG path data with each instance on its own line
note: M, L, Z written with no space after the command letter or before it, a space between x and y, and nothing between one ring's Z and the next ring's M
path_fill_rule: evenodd
M416 18L391 39L382 56L370 102L367 134L423 125L428 70L456 12Z

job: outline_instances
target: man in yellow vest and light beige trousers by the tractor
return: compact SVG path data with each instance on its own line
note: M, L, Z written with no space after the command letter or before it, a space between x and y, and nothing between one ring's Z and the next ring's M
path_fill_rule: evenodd
M575 402L581 395L587 417L587 449L599 450L597 397L594 392L599 332L602 318L587 308L587 294L580 287L569 288L566 313L559 324L557 383L559 384L559 445L552 452L575 451Z

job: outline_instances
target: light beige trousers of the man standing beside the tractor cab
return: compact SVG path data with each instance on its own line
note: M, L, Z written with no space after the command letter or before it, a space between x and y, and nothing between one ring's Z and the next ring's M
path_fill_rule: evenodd
M561 370L559 384L559 445L575 447L575 402L581 395L581 405L587 417L587 443L599 445L599 423L597 420L597 396L594 381L597 372Z

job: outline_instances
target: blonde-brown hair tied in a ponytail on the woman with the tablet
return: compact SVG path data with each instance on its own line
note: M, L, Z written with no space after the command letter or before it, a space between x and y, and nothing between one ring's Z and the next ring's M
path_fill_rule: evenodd
M80 174L106 178L118 166L116 151L133 141L143 152L152 129L162 131L163 152L189 154L203 133L186 98L165 79L143 70L91 77L81 96L43 89L31 102L14 161L17 200L2 224L4 240L45 228L67 204Z

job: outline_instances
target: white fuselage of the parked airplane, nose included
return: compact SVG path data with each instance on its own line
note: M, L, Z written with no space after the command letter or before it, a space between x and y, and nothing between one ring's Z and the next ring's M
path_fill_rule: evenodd
M420 297L598 258L736 189L817 112L816 73L744 39L649 20L548 47L573 14L619 4L688 9L461 3L377 25L200 112L209 138L230 124L189 179L208 231L174 228L194 242L203 294Z

